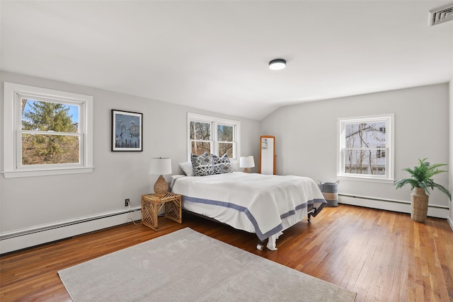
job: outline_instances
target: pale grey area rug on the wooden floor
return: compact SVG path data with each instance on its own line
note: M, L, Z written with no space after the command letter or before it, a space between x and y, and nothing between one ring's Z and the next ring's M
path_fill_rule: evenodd
M183 228L58 272L73 301L355 301L357 294Z

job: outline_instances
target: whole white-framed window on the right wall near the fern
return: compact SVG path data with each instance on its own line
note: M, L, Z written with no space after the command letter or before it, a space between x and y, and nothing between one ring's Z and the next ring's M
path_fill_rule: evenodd
M394 181L394 115L338 119L338 177Z

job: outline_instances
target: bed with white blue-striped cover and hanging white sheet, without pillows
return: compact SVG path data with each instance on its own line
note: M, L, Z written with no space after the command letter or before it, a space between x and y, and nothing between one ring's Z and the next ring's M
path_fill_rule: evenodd
M290 226L316 216L326 200L311 178L232 172L174 175L172 192L183 209L239 230L256 233L257 248L277 250L276 240Z

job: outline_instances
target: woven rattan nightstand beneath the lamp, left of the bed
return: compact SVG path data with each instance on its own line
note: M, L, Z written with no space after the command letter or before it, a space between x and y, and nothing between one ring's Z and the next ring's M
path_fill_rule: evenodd
M166 192L162 197L154 194L142 195L142 223L157 231L157 214L165 206L165 217L183 222L181 214L181 195Z

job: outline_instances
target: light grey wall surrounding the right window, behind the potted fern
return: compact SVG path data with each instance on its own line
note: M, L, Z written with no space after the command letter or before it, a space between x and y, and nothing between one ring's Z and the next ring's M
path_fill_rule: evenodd
M408 176L401 169L413 167L418 158L426 157L431 163L449 162L448 108L448 83L355 95L280 108L261 121L260 135L276 137L277 174L335 182L338 117L394 113L395 178L400 179ZM435 176L435 180L447 186L448 173ZM341 180L338 186L340 194L403 202L410 201L410 189L395 190L392 184L352 180ZM445 194L435 190L430 204L444 207L447 218L449 202Z

